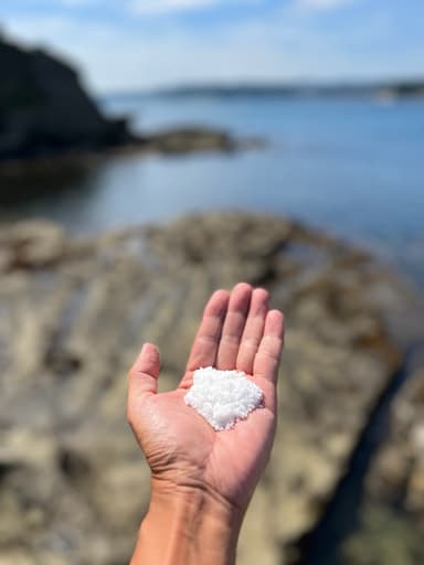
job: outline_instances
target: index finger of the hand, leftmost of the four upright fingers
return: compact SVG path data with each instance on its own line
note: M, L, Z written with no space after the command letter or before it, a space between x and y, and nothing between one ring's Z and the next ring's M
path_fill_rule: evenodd
M229 300L230 292L216 290L206 303L187 364L188 371L215 364Z

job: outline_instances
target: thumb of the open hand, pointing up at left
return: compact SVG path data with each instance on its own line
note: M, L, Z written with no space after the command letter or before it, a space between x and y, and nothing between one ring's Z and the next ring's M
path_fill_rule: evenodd
M160 361L157 347L152 343L145 343L128 373L128 407L146 395L156 394L159 369Z

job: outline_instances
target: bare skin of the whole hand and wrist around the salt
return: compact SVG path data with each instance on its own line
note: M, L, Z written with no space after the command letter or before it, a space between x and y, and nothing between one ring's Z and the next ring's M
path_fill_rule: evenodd
M129 372L128 422L151 469L151 500L131 565L232 564L243 516L269 458L284 319L268 294L241 282L210 298L179 386L158 394L159 352L146 343ZM183 396L200 366L244 371L264 407L215 431Z

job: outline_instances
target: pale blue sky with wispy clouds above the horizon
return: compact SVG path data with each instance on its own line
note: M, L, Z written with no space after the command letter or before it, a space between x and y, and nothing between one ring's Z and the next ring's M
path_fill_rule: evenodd
M96 92L424 77L423 0L12 0L0 26Z

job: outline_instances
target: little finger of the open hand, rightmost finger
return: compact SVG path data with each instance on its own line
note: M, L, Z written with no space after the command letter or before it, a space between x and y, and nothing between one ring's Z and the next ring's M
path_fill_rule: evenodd
M253 374L255 376L263 376L273 383L276 382L283 351L283 313L279 310L269 310L266 315L264 335L253 363Z

